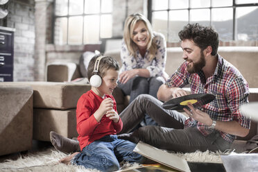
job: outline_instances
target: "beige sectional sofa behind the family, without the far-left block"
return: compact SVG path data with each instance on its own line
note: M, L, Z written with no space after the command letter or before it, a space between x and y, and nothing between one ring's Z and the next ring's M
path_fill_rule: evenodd
M250 101L258 101L258 80L255 74L258 65L258 47L220 47L218 52L238 67L250 85ZM104 55L116 58L121 65L120 51L112 49ZM166 72L171 75L183 62L182 49L168 48ZM79 62L51 62L46 66L46 82L6 82L0 85L28 86L33 89L33 139L49 141L51 130L65 137L77 137L76 103L78 98L91 86L87 78L82 78ZM117 110L121 112L128 105L128 96L121 89L114 89ZM243 148L247 140L257 135L257 123L252 121L250 133L245 138L238 137L233 146Z

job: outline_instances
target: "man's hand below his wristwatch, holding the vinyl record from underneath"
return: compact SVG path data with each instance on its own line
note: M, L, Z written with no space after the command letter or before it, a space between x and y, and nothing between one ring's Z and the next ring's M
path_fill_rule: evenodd
M191 103L188 103L187 106L191 111L187 110L187 108L184 108L183 110L189 115L189 117L200 123L204 123L206 126L212 126L212 119L209 117L209 114L194 108Z

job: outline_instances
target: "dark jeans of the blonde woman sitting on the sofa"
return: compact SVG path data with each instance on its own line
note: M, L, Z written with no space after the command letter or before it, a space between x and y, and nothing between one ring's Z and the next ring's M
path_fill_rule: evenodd
M141 94L149 94L157 98L157 90L165 82L162 76L144 78L141 76L136 76L131 78L127 83L118 83L118 87L122 89L123 94L130 95L131 103L137 96ZM157 126L157 123L151 119L148 115L145 115L144 120L141 122L141 126Z

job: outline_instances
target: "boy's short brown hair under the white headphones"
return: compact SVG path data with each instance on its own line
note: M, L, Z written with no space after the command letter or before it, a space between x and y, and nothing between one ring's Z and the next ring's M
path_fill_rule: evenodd
M88 65L88 69L87 69L87 76L88 76L89 80L94 75L94 65L95 65L96 59L99 56L101 56L101 55L94 55L92 60L89 61L89 65ZM96 73L96 74L98 76L101 76L101 78L103 78L103 76L105 76L105 72L108 69L114 69L114 70L118 71L119 64L118 64L117 60L115 60L114 58L112 58L110 56L103 56L103 58L101 58L101 61L99 62L98 73Z

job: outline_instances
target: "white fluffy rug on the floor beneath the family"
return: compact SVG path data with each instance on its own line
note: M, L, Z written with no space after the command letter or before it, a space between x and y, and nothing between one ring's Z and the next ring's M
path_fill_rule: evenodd
M196 153L174 154L187 160L189 162L221 162L221 153L211 153L206 151L204 153L196 151ZM6 160L0 163L0 171L90 171L97 170L85 169L83 166L65 165L58 163L62 157L66 157L65 153L62 153L54 148L49 148L42 152L29 153L25 157L19 157L17 160ZM139 165L133 164L132 166ZM128 164L123 164L122 169L126 169Z

